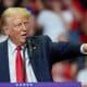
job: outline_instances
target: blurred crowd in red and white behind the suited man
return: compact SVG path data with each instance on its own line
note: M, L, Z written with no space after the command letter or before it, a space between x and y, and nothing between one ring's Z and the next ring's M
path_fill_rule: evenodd
M0 17L10 7L30 11L30 36L48 35L57 42L87 42L87 0L0 0ZM0 42L7 38L0 26ZM57 62L51 72L53 82L80 82L87 86L87 58Z

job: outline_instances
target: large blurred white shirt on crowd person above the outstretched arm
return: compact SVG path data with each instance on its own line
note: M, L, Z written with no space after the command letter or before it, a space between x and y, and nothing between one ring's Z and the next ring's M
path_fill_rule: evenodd
M58 41L59 35L65 33L61 17L50 10L41 11L37 23L44 27L44 35L48 35L52 41Z

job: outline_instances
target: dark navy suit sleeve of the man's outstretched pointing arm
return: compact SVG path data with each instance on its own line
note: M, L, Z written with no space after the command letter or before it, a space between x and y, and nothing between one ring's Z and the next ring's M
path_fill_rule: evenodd
M46 37L50 49L50 60L52 62L64 61L70 59L75 59L76 57L83 57L80 52L82 44L73 42L52 42L49 37Z

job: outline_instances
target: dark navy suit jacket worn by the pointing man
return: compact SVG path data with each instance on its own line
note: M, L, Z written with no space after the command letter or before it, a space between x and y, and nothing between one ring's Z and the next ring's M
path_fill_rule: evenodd
M47 36L27 40L29 60L38 82L51 82L51 66L57 61L82 55L80 45L51 42ZM0 44L0 82L10 82L8 40Z

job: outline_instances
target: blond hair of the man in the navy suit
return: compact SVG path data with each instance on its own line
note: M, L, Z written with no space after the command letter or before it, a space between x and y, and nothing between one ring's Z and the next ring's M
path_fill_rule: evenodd
M5 18L10 17L10 16L14 16L14 15L22 15L26 18L29 18L30 17L30 12L27 11L26 8L9 8L7 9L2 16L1 16L1 28L3 28L5 26Z

